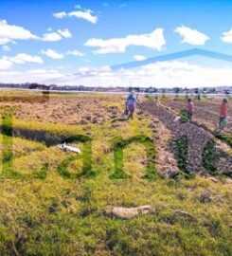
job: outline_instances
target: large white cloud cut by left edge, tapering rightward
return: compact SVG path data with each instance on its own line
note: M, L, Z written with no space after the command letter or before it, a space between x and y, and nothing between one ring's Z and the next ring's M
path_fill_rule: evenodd
M15 40L32 40L38 37L24 27L9 25L6 20L0 20L0 45L7 45Z

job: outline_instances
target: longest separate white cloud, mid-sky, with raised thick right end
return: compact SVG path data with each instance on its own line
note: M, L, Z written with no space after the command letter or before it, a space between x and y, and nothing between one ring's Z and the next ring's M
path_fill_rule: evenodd
M122 53L128 46L145 46L155 50L161 50L166 45L162 28L156 28L152 33L128 35L124 38L89 39L85 46L97 47L95 53Z

